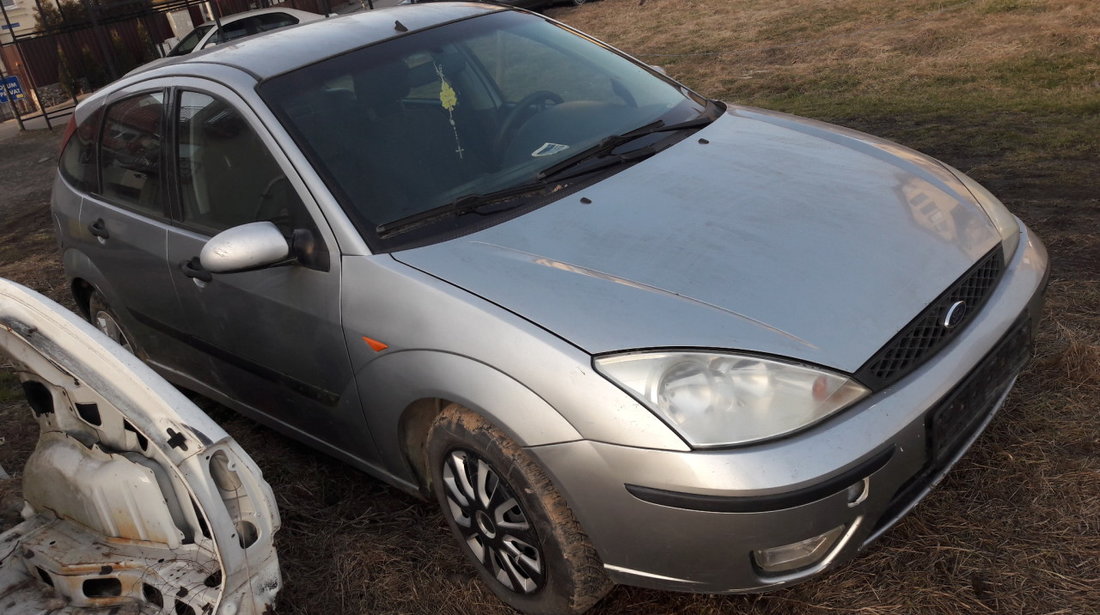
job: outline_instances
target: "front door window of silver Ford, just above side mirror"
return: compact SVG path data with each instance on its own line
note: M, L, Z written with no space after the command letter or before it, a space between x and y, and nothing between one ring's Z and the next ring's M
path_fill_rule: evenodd
M184 91L177 117L185 223L211 234L260 220L287 230L308 226L298 194L237 109L206 94Z

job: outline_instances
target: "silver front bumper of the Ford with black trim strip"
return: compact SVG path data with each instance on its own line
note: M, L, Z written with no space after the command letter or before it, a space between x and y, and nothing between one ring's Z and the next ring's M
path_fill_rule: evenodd
M813 429L728 450L582 440L529 451L617 583L730 593L813 576L855 557L915 506L1003 404L1030 355L1047 275L1043 244L1021 230L1020 248L967 330ZM768 572L754 556L829 531L835 541L794 570Z

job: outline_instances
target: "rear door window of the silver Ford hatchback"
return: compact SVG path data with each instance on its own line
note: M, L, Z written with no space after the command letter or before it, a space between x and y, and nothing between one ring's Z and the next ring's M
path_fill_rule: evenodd
M161 190L161 139L164 96L147 92L107 108L100 136L99 168L103 197L155 216L164 215Z

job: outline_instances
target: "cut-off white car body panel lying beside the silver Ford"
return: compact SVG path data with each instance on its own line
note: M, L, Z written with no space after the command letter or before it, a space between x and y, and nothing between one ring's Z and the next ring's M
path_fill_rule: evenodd
M223 429L90 325L6 279L0 359L41 429L24 520L0 535L0 612L274 607L278 509Z

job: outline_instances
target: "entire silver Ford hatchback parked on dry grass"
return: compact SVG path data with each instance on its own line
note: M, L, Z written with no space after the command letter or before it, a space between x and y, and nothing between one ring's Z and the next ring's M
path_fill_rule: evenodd
M851 559L1001 406L1047 273L943 163L482 4L129 76L53 212L99 329L436 497L527 613Z

